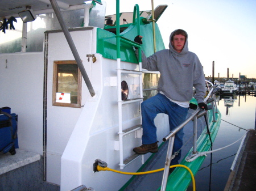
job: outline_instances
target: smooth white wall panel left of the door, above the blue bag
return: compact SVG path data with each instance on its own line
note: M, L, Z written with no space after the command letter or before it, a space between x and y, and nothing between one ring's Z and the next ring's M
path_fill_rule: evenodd
M7 68L6 68L7 60ZM44 54L0 54L0 107L18 114L19 148L43 154Z

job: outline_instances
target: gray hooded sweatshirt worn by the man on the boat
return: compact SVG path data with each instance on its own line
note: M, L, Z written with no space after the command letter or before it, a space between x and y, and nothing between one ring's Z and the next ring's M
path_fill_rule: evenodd
M174 31L175 32L175 31ZM205 78L203 66L195 53L188 51L188 35L183 50L178 53L171 45L169 49L160 50L150 57L142 51L142 68L148 71L159 71L158 91L175 101L190 101L194 96L201 103L205 96ZM138 50L136 51L138 55Z

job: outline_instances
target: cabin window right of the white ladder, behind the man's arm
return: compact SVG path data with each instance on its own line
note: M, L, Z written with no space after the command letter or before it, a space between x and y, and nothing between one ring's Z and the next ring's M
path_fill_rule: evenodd
M160 74L155 73L143 73L143 100L146 100L152 96L155 96L158 92Z

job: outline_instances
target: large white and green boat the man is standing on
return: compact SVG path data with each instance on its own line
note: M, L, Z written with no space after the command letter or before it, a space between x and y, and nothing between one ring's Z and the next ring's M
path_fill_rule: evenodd
M1 107L9 106L19 116L19 148L15 155L0 156L11 167L0 172L2 186L12 185L13 190L21 186L25 190L119 190L133 176L98 172L99 165L137 172L150 163L153 154L135 155L132 150L141 145L140 105L143 99L156 94L160 74L142 70L141 57L138 60L134 54L134 46L141 49L141 45L133 40L137 35L144 36L146 46L142 49L146 56L164 49L156 22L167 6L160 5L153 12L140 11L135 5L132 12L122 14L117 0L116 14L106 16L106 2L86 2L0 2L1 18L14 27L22 23L22 32L15 29L20 36L2 43L0 49ZM33 29L36 22L45 27ZM6 26L3 29L6 35L16 32ZM213 92L214 88L210 88L205 101L214 100ZM209 104L212 110L207 113L192 109L186 122L207 116L214 139L221 114L216 112L214 101ZM174 139L174 135L166 138L170 134L166 115L159 114L155 124L159 127L158 137L165 138L159 139L160 146ZM187 155L195 149L209 150L209 135L205 134L205 124L201 124L198 147L189 148L184 152ZM191 163L184 159L180 164L188 165L195 174L203 159ZM14 160L15 165L10 164ZM2 181L12 172L13 179ZM163 186L172 186L166 181L167 175L165 169ZM184 180L184 176L190 175L176 168L171 180L176 179L175 185L182 181L180 185L187 189L191 179Z

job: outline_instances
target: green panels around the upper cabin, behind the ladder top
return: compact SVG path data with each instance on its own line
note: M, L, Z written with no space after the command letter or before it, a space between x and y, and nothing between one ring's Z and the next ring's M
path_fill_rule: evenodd
M141 49L145 53L145 55L151 56L154 54L154 43L152 35L152 24L145 24L142 22L143 18L140 18L141 22L139 23L141 26L141 35L143 36L143 45L141 46ZM138 35L138 27L137 23L135 24L123 24L120 26L121 28L127 27L125 31L123 31L120 36L129 39L131 41L134 41L134 37ZM106 26L105 29L115 29L115 26ZM97 53L102 54L104 58L109 58L116 60L117 59L117 44L115 39L115 34L109 31L106 31L105 29L97 28ZM164 43L162 40L162 36L160 33L160 30L158 28L158 25L155 24L155 30L156 30L156 51L165 49ZM126 43L121 42L121 49L120 49L120 58L121 61L125 62L132 62L132 63L138 63L137 57L134 53L133 45L129 45Z

